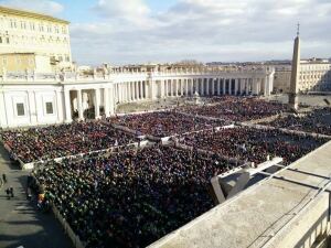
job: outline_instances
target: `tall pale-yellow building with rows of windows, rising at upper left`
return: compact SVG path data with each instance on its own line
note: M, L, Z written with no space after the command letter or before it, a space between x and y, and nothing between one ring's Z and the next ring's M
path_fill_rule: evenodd
M0 54L34 53L49 56L54 68L71 67L68 24L50 15L0 7ZM6 61L2 66L7 67Z

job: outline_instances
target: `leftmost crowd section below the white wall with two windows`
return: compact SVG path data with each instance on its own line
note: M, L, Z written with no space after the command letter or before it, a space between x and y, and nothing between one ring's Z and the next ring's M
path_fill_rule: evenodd
M135 142L135 138L102 122L8 130L1 132L4 147L23 163L86 153Z

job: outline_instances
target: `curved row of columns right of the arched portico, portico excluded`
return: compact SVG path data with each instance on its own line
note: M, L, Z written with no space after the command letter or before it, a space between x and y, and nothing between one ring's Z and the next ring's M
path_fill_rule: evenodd
M166 97L222 95L270 95L268 77L224 78L224 77L177 77L150 80L120 82L114 84L116 104Z

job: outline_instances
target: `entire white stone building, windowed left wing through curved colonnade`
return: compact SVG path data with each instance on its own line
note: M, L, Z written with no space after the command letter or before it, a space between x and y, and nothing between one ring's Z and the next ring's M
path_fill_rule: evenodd
M140 72L116 68L92 76L79 74L4 74L0 79L0 127L26 127L115 114L124 103L168 97L270 95L274 68Z

